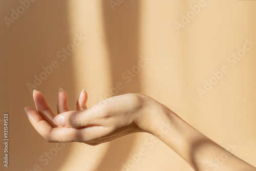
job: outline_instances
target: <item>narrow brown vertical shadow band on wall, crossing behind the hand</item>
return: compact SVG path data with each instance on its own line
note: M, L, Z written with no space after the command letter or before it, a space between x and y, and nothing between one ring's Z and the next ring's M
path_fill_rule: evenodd
M131 79L124 79L122 74L138 65L139 54L139 19L140 1L124 1L111 7L109 1L101 1L105 42L108 46L111 63L112 87L122 82L124 89L118 95L125 93L140 93L141 82L139 73ZM135 74L134 74L135 75ZM130 158L134 145L135 134L131 134L110 142L108 151L99 164L97 171L121 170L121 163Z

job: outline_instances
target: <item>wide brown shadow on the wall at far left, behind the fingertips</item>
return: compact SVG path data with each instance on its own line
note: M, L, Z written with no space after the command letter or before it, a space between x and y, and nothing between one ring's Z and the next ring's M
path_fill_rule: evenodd
M74 39L73 35L67 36L70 34L67 3L63 0L31 1L26 4L27 9L22 7L24 5L20 1L1 3L2 18L15 16L12 9L16 12L20 10L14 19L11 18L9 27L4 19L0 27L1 73L5 73L1 75L1 80L5 82L1 87L1 113L9 113L10 170L33 170L36 165L42 170L58 170L69 154L70 144L63 147L48 143L34 130L24 112L25 106L34 108L29 88L45 94L55 115L59 87L68 92L70 99L77 98L74 97L74 85L67 84L74 82L72 54L63 61L63 57L57 57L57 52L67 48ZM47 75L41 74L45 72L42 67L51 66L52 61L56 61L54 66L58 67L52 71L48 69ZM37 80L36 85L35 75L42 78ZM34 86L28 87L28 82ZM75 108L73 103L72 109Z

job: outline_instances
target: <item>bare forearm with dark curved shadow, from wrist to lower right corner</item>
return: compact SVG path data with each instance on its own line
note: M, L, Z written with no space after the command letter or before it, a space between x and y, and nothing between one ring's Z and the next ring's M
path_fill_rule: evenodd
M155 119L147 132L167 144L195 170L256 170L194 129L164 105L151 111L154 114L150 116ZM216 159L221 155L225 155L226 159L217 164Z

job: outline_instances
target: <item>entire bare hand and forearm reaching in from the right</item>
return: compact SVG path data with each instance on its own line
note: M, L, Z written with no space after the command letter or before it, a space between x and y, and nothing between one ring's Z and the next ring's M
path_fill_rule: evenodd
M167 144L195 170L256 171L255 167L201 134L165 105L145 95L119 95L88 109L88 95L83 90L76 103L77 111L69 111L68 95L60 89L57 116L41 92L34 91L33 98L36 110L27 107L25 112L35 130L49 142L98 145L127 134L146 132Z

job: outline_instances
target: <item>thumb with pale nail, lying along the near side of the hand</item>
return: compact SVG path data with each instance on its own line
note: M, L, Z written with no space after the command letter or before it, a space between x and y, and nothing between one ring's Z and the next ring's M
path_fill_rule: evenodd
M69 111L57 115L54 123L58 126L67 126L81 128L91 125L99 125L99 119L96 118L92 108L84 111Z

